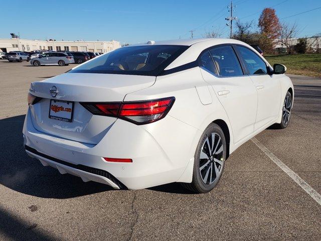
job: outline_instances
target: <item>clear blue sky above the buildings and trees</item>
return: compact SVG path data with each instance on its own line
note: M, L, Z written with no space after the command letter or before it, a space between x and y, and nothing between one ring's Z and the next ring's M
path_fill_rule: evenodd
M2 0L0 38L20 33L23 39L118 40L137 43L146 40L203 37L212 29L229 36L224 19L229 0L145 1L145 0ZM321 33L320 0L234 0L234 15L241 22L257 20L265 7L274 6L280 21L296 22L300 36ZM12 19L12 17L16 17ZM18 18L17 18L18 17Z

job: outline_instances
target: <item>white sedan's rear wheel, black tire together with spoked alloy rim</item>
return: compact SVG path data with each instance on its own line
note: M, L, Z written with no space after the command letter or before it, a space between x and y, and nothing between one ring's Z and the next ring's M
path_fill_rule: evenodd
M213 134L214 143L212 143ZM207 148L209 146L213 147ZM221 149L222 151L220 151ZM205 154L206 158L201 159L201 152L202 157L204 157ZM211 154L210 157L209 154ZM182 183L182 186L196 193L207 193L211 191L220 181L225 165L225 159L226 140L224 133L218 125L211 123L205 129L194 155L194 169L192 182ZM216 168L214 165L216 165ZM215 178L213 177L214 175Z

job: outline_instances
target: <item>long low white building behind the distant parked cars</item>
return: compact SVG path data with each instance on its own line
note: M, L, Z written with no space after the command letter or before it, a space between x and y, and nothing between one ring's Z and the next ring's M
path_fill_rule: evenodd
M113 49L120 48L120 43L111 41L54 41L54 40L28 40L28 39L0 39L0 52L10 51L89 51L106 53Z

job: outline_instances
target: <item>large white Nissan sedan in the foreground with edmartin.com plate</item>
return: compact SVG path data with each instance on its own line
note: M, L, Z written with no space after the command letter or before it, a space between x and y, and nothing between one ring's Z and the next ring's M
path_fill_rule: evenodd
M288 126L285 71L231 39L123 47L31 84L25 149L85 182L209 192L239 146Z

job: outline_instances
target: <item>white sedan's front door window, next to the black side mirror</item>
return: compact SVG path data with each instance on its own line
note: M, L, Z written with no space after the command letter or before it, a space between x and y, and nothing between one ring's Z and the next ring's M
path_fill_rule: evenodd
M249 74L267 74L266 63L252 50L243 46L236 46L240 52Z

